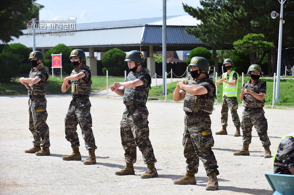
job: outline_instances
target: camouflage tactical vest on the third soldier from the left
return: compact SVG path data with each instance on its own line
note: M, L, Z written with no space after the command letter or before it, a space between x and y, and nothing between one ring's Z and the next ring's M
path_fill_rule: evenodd
M150 82L146 87L125 87L125 91L123 94L123 103L133 103L133 104L143 104L146 105L146 101L148 98L149 89L151 89L151 77L149 74L149 69L144 68L140 72L130 72L126 78L126 81L133 81L138 79L138 77L142 74L148 74L150 78Z

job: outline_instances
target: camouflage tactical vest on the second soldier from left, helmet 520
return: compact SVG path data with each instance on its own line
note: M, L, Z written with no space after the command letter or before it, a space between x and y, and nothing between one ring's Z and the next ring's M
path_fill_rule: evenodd
M71 72L71 75L80 73L83 69L89 69L88 66L82 65L80 68L75 68ZM90 96L91 93L92 77L90 72L90 81L86 82L83 78L77 80L71 80L71 93L72 94L84 94Z

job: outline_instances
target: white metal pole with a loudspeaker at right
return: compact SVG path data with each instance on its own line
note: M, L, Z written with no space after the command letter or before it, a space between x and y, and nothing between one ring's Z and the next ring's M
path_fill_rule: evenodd
M279 43L278 43L278 60L277 60L277 83L275 91L275 103L280 102L280 76L281 76L281 53L282 53L282 29L283 29L283 5L287 0L280 0L281 10L280 14L273 11L270 16L276 18L280 15L280 29L279 29Z

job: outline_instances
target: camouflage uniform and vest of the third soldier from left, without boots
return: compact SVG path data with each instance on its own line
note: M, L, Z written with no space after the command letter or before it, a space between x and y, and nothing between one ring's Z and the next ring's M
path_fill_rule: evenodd
M151 77L149 69L144 68L140 72L130 72L126 81L140 79L143 85L137 87L125 87L123 103L126 109L121 120L121 143L125 150L125 161L135 163L137 160L137 146L142 152L145 164L156 162L151 141L149 140L148 110L146 101L149 89L151 89Z

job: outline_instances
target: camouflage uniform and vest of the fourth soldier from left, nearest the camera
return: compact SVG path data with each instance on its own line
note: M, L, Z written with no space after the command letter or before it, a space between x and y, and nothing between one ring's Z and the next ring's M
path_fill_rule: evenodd
M188 172L198 172L199 158L201 158L206 174L215 172L218 175L216 157L211 150L214 140L209 116L213 111L216 86L212 79L209 79L208 74L206 76L207 78L200 80L195 80L190 76L187 83L197 87L203 86L208 92L203 95L193 95L186 92L183 108L185 111L184 156L188 164L186 167Z

